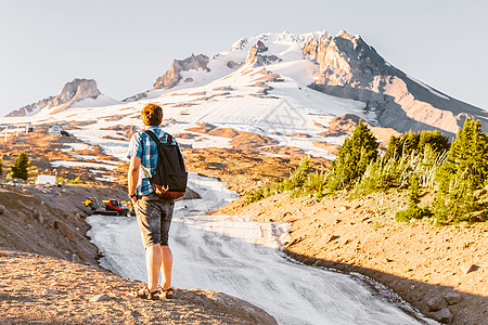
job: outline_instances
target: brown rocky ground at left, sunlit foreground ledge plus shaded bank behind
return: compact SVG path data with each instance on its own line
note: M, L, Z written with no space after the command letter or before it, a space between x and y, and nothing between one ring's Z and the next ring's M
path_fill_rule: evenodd
M98 266L81 205L87 197L125 193L117 184L0 185L0 324L275 324L262 310L220 292L178 289L170 301L129 298L142 284Z

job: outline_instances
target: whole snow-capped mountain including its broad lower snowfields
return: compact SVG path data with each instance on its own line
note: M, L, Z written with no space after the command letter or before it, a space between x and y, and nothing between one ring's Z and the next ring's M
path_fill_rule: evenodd
M175 60L150 90L123 103L73 104L73 98L69 109L51 101L49 109L0 122L82 121L70 132L113 151L121 141L115 130L142 126L140 109L157 103L168 131L185 145L235 147L247 136L255 139L248 147L270 154L297 147L328 158L334 157L329 147L344 140L328 132L331 120L345 114L390 132L438 129L448 135L472 116L488 131L487 112L415 80L345 31L243 38L213 57Z

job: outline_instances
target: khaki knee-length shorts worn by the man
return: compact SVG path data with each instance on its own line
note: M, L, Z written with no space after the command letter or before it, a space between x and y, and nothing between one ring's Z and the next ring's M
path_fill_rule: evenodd
M134 208L144 248L155 244L168 246L175 200L151 193L141 196Z

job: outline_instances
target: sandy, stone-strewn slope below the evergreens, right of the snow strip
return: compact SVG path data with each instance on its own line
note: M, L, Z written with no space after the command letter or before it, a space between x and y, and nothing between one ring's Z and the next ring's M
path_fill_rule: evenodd
M488 224L395 221L407 204L407 192L352 200L282 194L249 205L241 198L213 213L292 222L284 249L294 259L368 275L445 323L488 324Z

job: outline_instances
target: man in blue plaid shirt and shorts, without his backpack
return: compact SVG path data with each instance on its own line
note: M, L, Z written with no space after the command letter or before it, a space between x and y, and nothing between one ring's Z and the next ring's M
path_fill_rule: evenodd
M147 129L166 143L167 133L159 127L163 109L155 104L147 104L142 109L141 117ZM177 144L175 140L174 144ZM136 208L147 269L147 285L133 291L131 296L150 300L157 300L159 296L172 298L172 252L168 246L168 233L175 200L156 195L149 181L149 176L154 174L157 166L157 144L147 133L138 132L130 139L128 157L128 191ZM162 268L164 276L158 286Z

